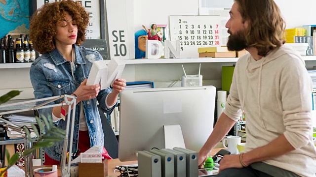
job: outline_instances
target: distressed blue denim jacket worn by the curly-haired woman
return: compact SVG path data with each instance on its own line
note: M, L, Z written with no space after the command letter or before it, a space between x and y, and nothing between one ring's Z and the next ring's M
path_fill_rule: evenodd
M92 62L102 59L101 55L96 51L79 47L76 44L73 47L75 47L76 54L76 60L74 62L74 78L71 72L71 62L66 61L57 49L40 56L32 63L30 77L34 88L35 99L73 93L79 87L80 83L88 78ZM90 136L90 145L91 147L100 146L101 148L99 151L102 151L104 146L104 134L97 108L97 100L100 109L107 114L111 114L116 105L111 109L107 109L105 104L106 96L110 92L110 88L100 90L96 98L81 101L77 104L72 145L73 152L78 148L80 104L83 104L83 111ZM58 104L61 101L63 100L60 99L51 104ZM37 102L37 104L40 103L41 102ZM40 109L39 114L51 118L52 109L53 108ZM55 122L55 125L65 130L66 121L60 119ZM45 153L52 159L60 161L63 144L64 142L56 142L53 147L44 148Z

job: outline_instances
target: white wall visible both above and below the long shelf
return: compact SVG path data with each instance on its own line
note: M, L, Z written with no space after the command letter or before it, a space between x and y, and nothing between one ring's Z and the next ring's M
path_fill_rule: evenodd
M316 0L275 0L281 9L287 28L293 28L305 24L316 24L313 16ZM134 0L134 30L147 28L151 22L168 24L169 15L198 15L198 0ZM203 80L220 80L222 65L232 63L203 64L201 74ZM315 65L315 62L307 64ZM197 64L186 64L188 72L196 73ZM150 69L149 69L150 68ZM156 70L155 70L156 69ZM182 75L180 64L160 64L128 66L123 76L128 81L154 80L156 82L177 81ZM146 73L144 75L144 73ZM146 77L144 77L146 76ZM33 97L32 85L29 80L29 68L24 69L0 69L0 93L11 89L24 90L22 98ZM220 84L220 83L219 83ZM208 85L208 84L206 84Z

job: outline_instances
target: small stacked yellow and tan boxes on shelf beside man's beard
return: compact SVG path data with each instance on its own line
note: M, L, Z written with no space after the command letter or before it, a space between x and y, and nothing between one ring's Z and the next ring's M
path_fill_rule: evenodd
M236 57L236 52L228 51L226 46L217 47L203 47L197 48L198 57L211 57L211 58L234 58Z

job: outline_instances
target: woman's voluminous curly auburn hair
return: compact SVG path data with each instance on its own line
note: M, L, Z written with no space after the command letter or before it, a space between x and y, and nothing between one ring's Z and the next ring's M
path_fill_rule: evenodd
M89 14L79 2L62 0L44 4L36 10L30 23L30 40L40 54L55 49L54 36L57 24L65 20L65 12L73 18L78 27L77 45L85 40L85 30L89 23Z

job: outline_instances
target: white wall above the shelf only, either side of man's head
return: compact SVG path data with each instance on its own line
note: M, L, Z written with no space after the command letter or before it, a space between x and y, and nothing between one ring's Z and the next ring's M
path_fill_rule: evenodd
M316 0L275 0L286 28L316 24ZM159 5L161 4L161 5ZM181 5L181 7L180 7ZM198 15L198 0L134 0L135 31L151 22L167 25L169 15Z

